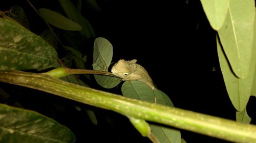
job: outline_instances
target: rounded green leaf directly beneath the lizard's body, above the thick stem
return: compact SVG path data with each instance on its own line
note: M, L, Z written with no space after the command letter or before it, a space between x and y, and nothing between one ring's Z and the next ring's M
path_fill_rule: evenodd
M124 97L155 103L155 95L153 90L142 81L125 81L122 84L121 91Z

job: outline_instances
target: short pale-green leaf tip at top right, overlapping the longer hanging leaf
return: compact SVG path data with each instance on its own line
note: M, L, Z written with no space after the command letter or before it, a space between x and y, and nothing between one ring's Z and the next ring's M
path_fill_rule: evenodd
M218 31L224 23L228 11L228 0L201 0L211 27Z

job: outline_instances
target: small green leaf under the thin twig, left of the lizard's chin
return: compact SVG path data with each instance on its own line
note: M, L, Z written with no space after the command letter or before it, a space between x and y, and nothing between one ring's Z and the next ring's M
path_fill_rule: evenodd
M112 77L112 76L106 76L106 75L94 75L95 80L97 83L106 89L112 89L116 87L121 82L121 78L119 77Z

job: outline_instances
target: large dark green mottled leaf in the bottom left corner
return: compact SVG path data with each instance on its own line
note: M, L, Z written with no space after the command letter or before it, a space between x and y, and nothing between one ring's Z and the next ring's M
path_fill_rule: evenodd
M74 142L67 127L37 112L0 104L0 142Z

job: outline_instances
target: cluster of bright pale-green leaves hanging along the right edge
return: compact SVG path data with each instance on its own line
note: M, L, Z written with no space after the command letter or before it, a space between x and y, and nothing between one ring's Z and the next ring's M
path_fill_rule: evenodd
M201 0L201 3L211 26L218 32L218 55L229 98L233 106L241 112L237 113L237 116L244 115L247 119L243 121L249 123L246 104L250 95L254 95L253 78L256 76L254 1ZM243 8L246 8L246 11Z

